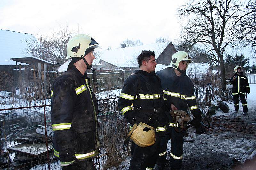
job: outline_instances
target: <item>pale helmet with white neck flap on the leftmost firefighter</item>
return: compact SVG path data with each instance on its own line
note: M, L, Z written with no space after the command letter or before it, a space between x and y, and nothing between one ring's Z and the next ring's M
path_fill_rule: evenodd
M67 56L64 64L58 69L59 72L67 71L72 58L83 58L88 48L101 48L100 45L89 35L79 34L71 37L67 43Z

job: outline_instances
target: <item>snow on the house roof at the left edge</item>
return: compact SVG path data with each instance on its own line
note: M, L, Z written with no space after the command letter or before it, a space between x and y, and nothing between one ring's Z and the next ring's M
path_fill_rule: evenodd
M33 34L20 33L0 29L0 65L16 65L10 58L20 58L29 56L25 49L25 41L32 42L36 37ZM22 64L24 63L17 63Z

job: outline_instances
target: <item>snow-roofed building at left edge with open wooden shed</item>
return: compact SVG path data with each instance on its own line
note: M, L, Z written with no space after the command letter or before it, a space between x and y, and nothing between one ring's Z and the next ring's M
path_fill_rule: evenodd
M34 79L46 78L47 66L52 63L26 52L28 44L35 40L33 34L0 29L0 90L5 88L6 81L17 80L21 76L22 79L29 75L34 75Z

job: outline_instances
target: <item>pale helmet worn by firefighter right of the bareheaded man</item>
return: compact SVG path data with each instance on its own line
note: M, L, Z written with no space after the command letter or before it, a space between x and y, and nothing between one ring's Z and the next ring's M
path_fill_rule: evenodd
M171 67L177 69L179 67L179 63L181 61L185 61L189 63L193 63L193 61L191 60L190 56L188 55L188 53L186 53L185 51L177 51L176 53L174 53L172 55L172 61L171 61ZM187 66L188 66L187 64Z

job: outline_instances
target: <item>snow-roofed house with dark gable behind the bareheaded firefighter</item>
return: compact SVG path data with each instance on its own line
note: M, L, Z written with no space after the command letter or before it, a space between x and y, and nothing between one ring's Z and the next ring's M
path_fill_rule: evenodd
M165 53L165 56L163 54L163 51L164 50L166 51L166 49L169 49L169 48L170 49L174 48L171 42L161 42L161 43L153 43L153 44L147 44L147 45L98 51L97 55L99 59L94 61L94 63L97 63L97 64L93 65L93 67L96 70L119 70L119 69L135 70L139 68L139 65L136 59L143 50L154 51L156 53L156 62L157 62L157 58L160 55L163 55L163 57L167 57L171 55L172 57L173 53L169 53L169 54Z

